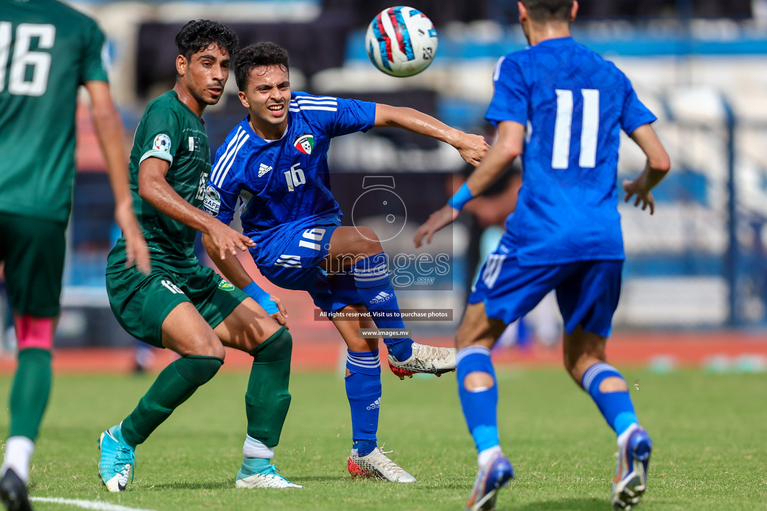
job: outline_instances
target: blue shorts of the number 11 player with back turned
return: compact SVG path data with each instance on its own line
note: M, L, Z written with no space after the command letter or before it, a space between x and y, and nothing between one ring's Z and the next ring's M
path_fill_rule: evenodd
M610 336L613 313L621 296L623 260L521 267L504 245L509 239L507 234L482 266L469 303L484 302L489 318L500 319L508 325L529 313L551 290L556 290L568 333L581 325L585 332Z

